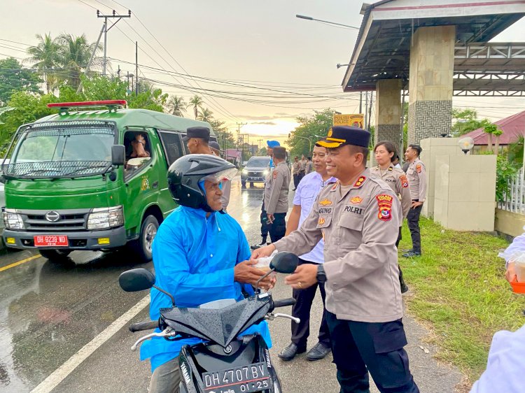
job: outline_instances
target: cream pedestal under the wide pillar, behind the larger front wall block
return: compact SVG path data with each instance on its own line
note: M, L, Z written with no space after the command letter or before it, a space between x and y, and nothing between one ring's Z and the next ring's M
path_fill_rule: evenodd
M438 155L463 155L458 146L459 138L427 138L421 140L421 161L425 164L427 176L426 202L421 213L426 217L434 216L434 182L435 182L435 157Z

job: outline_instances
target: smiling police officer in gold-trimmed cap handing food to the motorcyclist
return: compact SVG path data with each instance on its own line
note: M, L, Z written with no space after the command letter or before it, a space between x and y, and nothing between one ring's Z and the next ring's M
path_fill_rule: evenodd
M285 282L306 288L325 282L326 320L341 392L368 392L368 371L380 392L419 392L409 371L402 324L395 241L402 220L398 196L365 168L370 133L332 127L318 141L328 148L328 174L338 179L319 193L300 229L259 248L297 255L324 238L325 263L297 267Z

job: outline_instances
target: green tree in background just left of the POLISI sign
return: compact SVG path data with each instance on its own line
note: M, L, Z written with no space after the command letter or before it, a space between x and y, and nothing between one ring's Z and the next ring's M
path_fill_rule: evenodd
M314 115L297 117L296 120L300 125L288 134L286 140L286 144L290 146L290 157L311 155L310 146L313 149L315 142L328 134L333 124L333 115L334 111L328 108L321 111L314 110Z

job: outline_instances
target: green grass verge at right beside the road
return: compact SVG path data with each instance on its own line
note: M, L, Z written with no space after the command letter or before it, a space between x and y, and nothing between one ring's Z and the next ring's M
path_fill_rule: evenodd
M413 292L407 310L430 322L438 359L458 366L473 382L486 367L493 334L525 323L525 295L514 294L505 280L505 261L498 252L509 244L490 234L443 229L421 217L423 255L401 257L412 248L403 226L400 266Z

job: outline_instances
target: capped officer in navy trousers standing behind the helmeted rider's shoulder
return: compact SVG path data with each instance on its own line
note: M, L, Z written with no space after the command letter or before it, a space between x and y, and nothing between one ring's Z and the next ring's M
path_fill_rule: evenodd
M265 210L269 227L269 238L278 241L286 233L284 217L288 213L288 190L290 189L290 169L286 165L286 149L274 148L274 169L269 173L265 184Z

